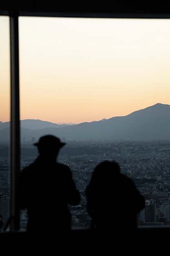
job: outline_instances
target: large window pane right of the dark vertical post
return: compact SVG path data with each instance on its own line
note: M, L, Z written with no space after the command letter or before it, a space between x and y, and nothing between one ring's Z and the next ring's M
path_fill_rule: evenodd
M170 223L170 137L155 116L148 137L144 132L149 107L156 116L170 108L169 28L168 19L19 18L21 168L37 156L40 136L66 141L58 160L71 167L82 194L71 207L73 227L89 227L84 189L104 159L119 162L145 195L139 225ZM113 117L129 118L126 130L122 122L111 139L102 128L98 137L98 130L88 134L88 123ZM81 123L84 137L53 130ZM23 212L22 228L26 218Z

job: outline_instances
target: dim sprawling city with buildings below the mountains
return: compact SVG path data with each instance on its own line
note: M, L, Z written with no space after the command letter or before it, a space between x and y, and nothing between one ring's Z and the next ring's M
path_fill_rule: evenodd
M146 207L137 216L139 226L170 225L170 140L67 141L64 137L62 140L66 142L66 146L61 150L57 160L71 168L73 179L81 193L80 204L70 206L73 229L86 229L91 225L91 218L86 210L85 189L95 166L104 160L117 161L120 164L121 173L131 177L137 189L144 195ZM21 170L31 164L38 155L33 146L34 142L35 137L32 137L31 141L25 141L23 138ZM0 215L4 225L10 217L9 165L9 146L1 144ZM109 221L126 222L126 214L124 220L119 220L119 211L117 214L117 220ZM26 223L26 211L21 211L21 230L26 230Z

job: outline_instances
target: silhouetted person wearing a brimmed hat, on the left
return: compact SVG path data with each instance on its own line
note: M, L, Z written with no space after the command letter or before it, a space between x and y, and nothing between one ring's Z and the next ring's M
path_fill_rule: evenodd
M73 181L71 169L57 162L65 145L53 135L40 137L34 144L39 155L20 172L18 206L28 213L27 234L35 237L71 230L69 205L80 202L80 193Z

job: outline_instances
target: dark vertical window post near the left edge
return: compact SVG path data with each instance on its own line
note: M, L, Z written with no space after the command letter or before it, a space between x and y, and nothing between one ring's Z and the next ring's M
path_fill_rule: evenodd
M17 184L20 172L20 100L18 15L10 16L11 127L10 127L10 231L19 229Z

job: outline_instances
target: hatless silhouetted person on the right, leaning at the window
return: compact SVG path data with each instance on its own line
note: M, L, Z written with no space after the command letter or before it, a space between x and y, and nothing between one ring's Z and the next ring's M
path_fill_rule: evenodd
M145 200L117 162L104 161L95 167L86 198L99 252L137 255L137 213L144 209Z

